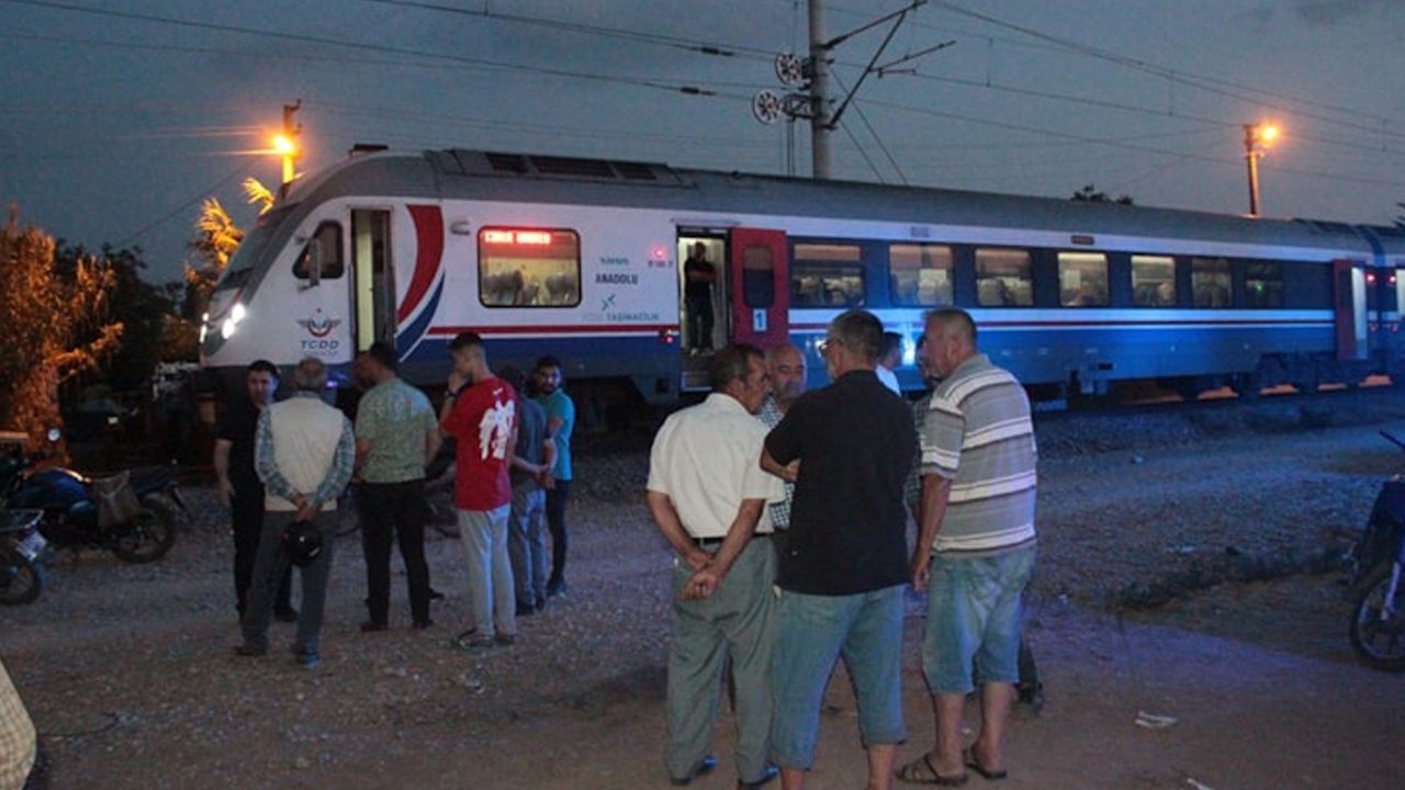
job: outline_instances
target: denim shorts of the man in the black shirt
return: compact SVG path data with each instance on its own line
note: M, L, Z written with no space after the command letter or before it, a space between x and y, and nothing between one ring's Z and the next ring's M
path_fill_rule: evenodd
M771 758L808 770L819 708L840 656L858 699L864 746L908 739L902 723L902 585L846 596L781 590L771 663Z

